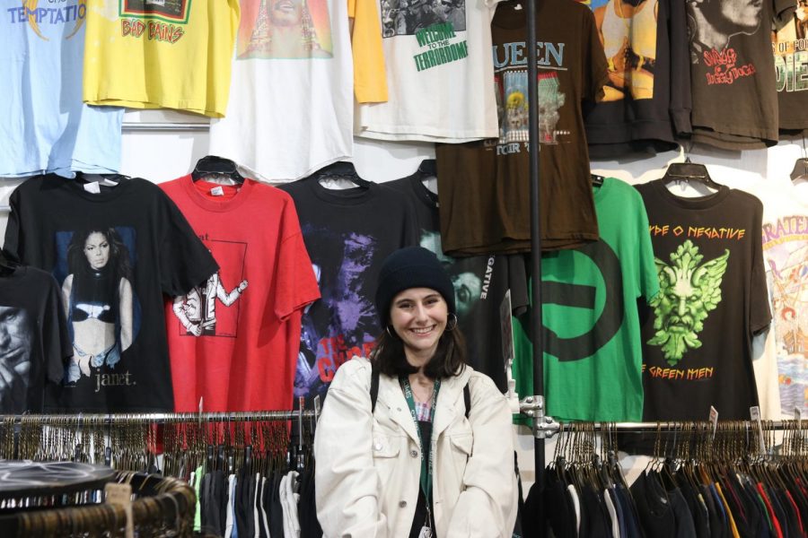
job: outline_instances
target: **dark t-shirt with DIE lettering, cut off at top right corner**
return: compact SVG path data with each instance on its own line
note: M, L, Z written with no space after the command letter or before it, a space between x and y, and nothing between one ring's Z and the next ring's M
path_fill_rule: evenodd
M772 32L777 74L777 110L780 131L808 128L808 4L792 0L794 13L783 13L782 27Z

